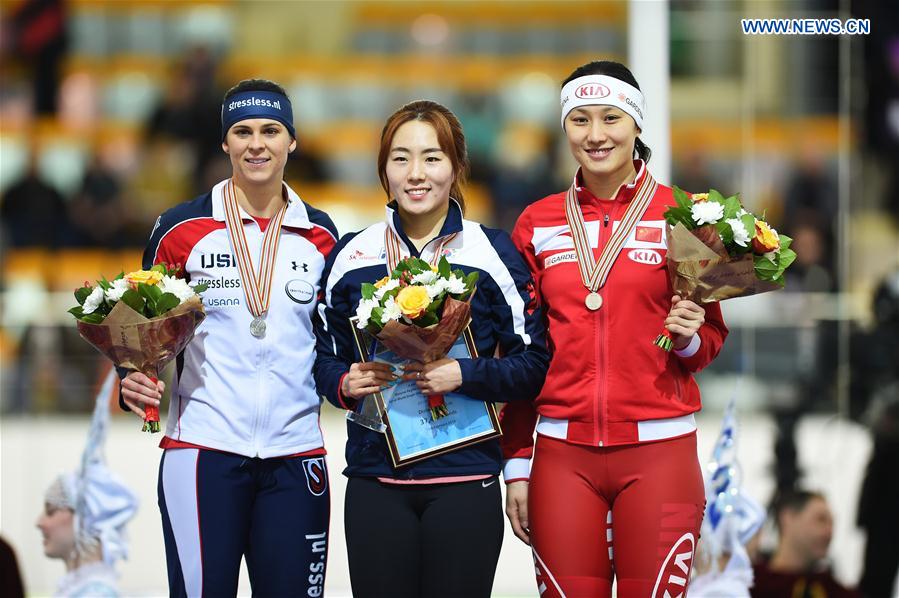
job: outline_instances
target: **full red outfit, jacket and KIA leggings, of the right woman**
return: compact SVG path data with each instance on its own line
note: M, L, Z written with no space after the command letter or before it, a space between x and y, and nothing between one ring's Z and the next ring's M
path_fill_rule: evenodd
M646 167L614 201L578 200L594 256L624 215ZM672 597L685 590L704 509L692 372L718 354L717 303L682 351L653 345L671 309L662 185L629 235L590 311L565 219L566 193L530 205L512 238L536 283L552 362L534 403L502 414L506 482L529 477L528 523L541 595ZM538 441L534 449L536 425Z

